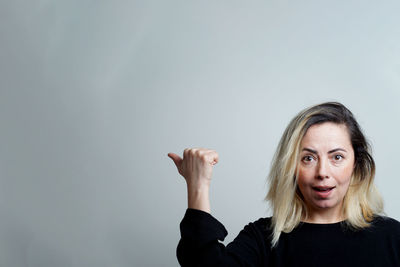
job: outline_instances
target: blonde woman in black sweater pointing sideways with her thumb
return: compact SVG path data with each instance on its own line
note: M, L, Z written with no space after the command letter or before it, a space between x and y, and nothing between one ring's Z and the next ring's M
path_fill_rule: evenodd
M226 247L210 214L216 151L169 153L188 189L177 248L182 266L400 266L400 223L384 217L375 163L353 114L328 102L287 126L269 173L273 215L249 223Z

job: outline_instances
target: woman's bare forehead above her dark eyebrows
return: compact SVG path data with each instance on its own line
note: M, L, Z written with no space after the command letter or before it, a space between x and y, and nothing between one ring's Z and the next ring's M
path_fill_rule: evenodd
M351 146L351 140L345 124L324 122L311 126L304 135L301 144L302 146Z

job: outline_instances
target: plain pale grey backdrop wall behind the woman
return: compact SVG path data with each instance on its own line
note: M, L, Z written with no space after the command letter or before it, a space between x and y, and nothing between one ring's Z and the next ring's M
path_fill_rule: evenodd
M215 149L231 241L301 109L340 101L400 219L398 1L0 1L0 266L177 266L186 187Z

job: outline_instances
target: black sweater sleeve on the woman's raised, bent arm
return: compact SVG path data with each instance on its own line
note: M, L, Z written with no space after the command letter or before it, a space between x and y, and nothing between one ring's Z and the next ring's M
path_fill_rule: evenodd
M267 253L262 230L265 220L246 225L225 247L218 241L227 236L225 227L207 212L187 209L180 223L178 261L181 266L263 266Z

